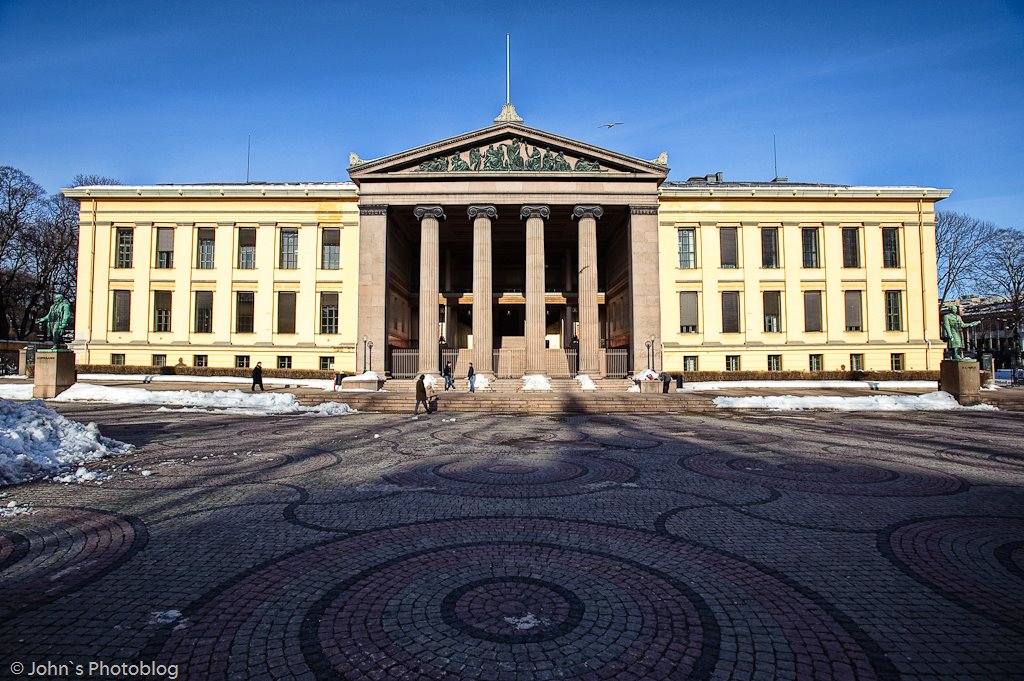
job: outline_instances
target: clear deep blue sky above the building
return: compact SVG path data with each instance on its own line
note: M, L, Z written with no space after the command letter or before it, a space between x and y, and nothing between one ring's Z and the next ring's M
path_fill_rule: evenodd
M346 179L374 158L525 123L670 179L951 187L1024 226L1024 2L0 0L0 165L50 190ZM611 130L602 123L623 121Z

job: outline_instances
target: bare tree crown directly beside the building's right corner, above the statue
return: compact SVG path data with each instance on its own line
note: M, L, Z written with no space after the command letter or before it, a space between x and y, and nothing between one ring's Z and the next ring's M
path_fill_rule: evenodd
M965 289L973 283L982 251L994 232L991 222L964 213L935 213L940 302L967 293Z

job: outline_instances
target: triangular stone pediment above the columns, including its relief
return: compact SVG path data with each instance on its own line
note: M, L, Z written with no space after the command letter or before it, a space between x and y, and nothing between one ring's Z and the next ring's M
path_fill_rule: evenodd
M500 123L381 159L354 157L353 181L496 176L646 178L662 182L666 165L643 161L519 123Z

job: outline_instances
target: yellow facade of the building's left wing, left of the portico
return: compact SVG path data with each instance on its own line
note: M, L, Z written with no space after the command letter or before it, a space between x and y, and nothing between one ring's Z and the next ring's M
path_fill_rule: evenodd
M117 187L71 191L81 203L76 344L79 364L168 365L205 356L210 367L234 367L248 356L276 368L339 371L355 365L358 211L353 185ZM103 195L102 197L95 195ZM91 196L90 196L91 195ZM111 196L114 195L114 196ZM173 229L173 261L158 266L157 232ZM130 229L132 262L118 267L118 229ZM198 235L212 228L213 266L200 268ZM240 267L241 228L254 228L254 267ZM298 232L295 268L280 265L282 229ZM324 269L325 229L340 230L340 262ZM205 232L208 233L208 232ZM124 264L124 263L122 263ZM114 292L130 292L127 331L115 331ZM252 333L236 330L237 292L254 293ZM278 292L294 291L295 333L279 334ZM157 331L155 296L171 293L170 331ZM196 293L212 292L209 333L197 333ZM338 294L337 333L319 333L319 297Z

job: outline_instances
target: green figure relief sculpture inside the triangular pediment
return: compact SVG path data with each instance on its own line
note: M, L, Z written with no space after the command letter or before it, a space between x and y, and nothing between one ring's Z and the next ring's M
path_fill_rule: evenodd
M413 172L606 172L600 162L585 157L566 159L564 152L550 147L527 145L513 137L506 142L490 143L452 155L424 161Z

